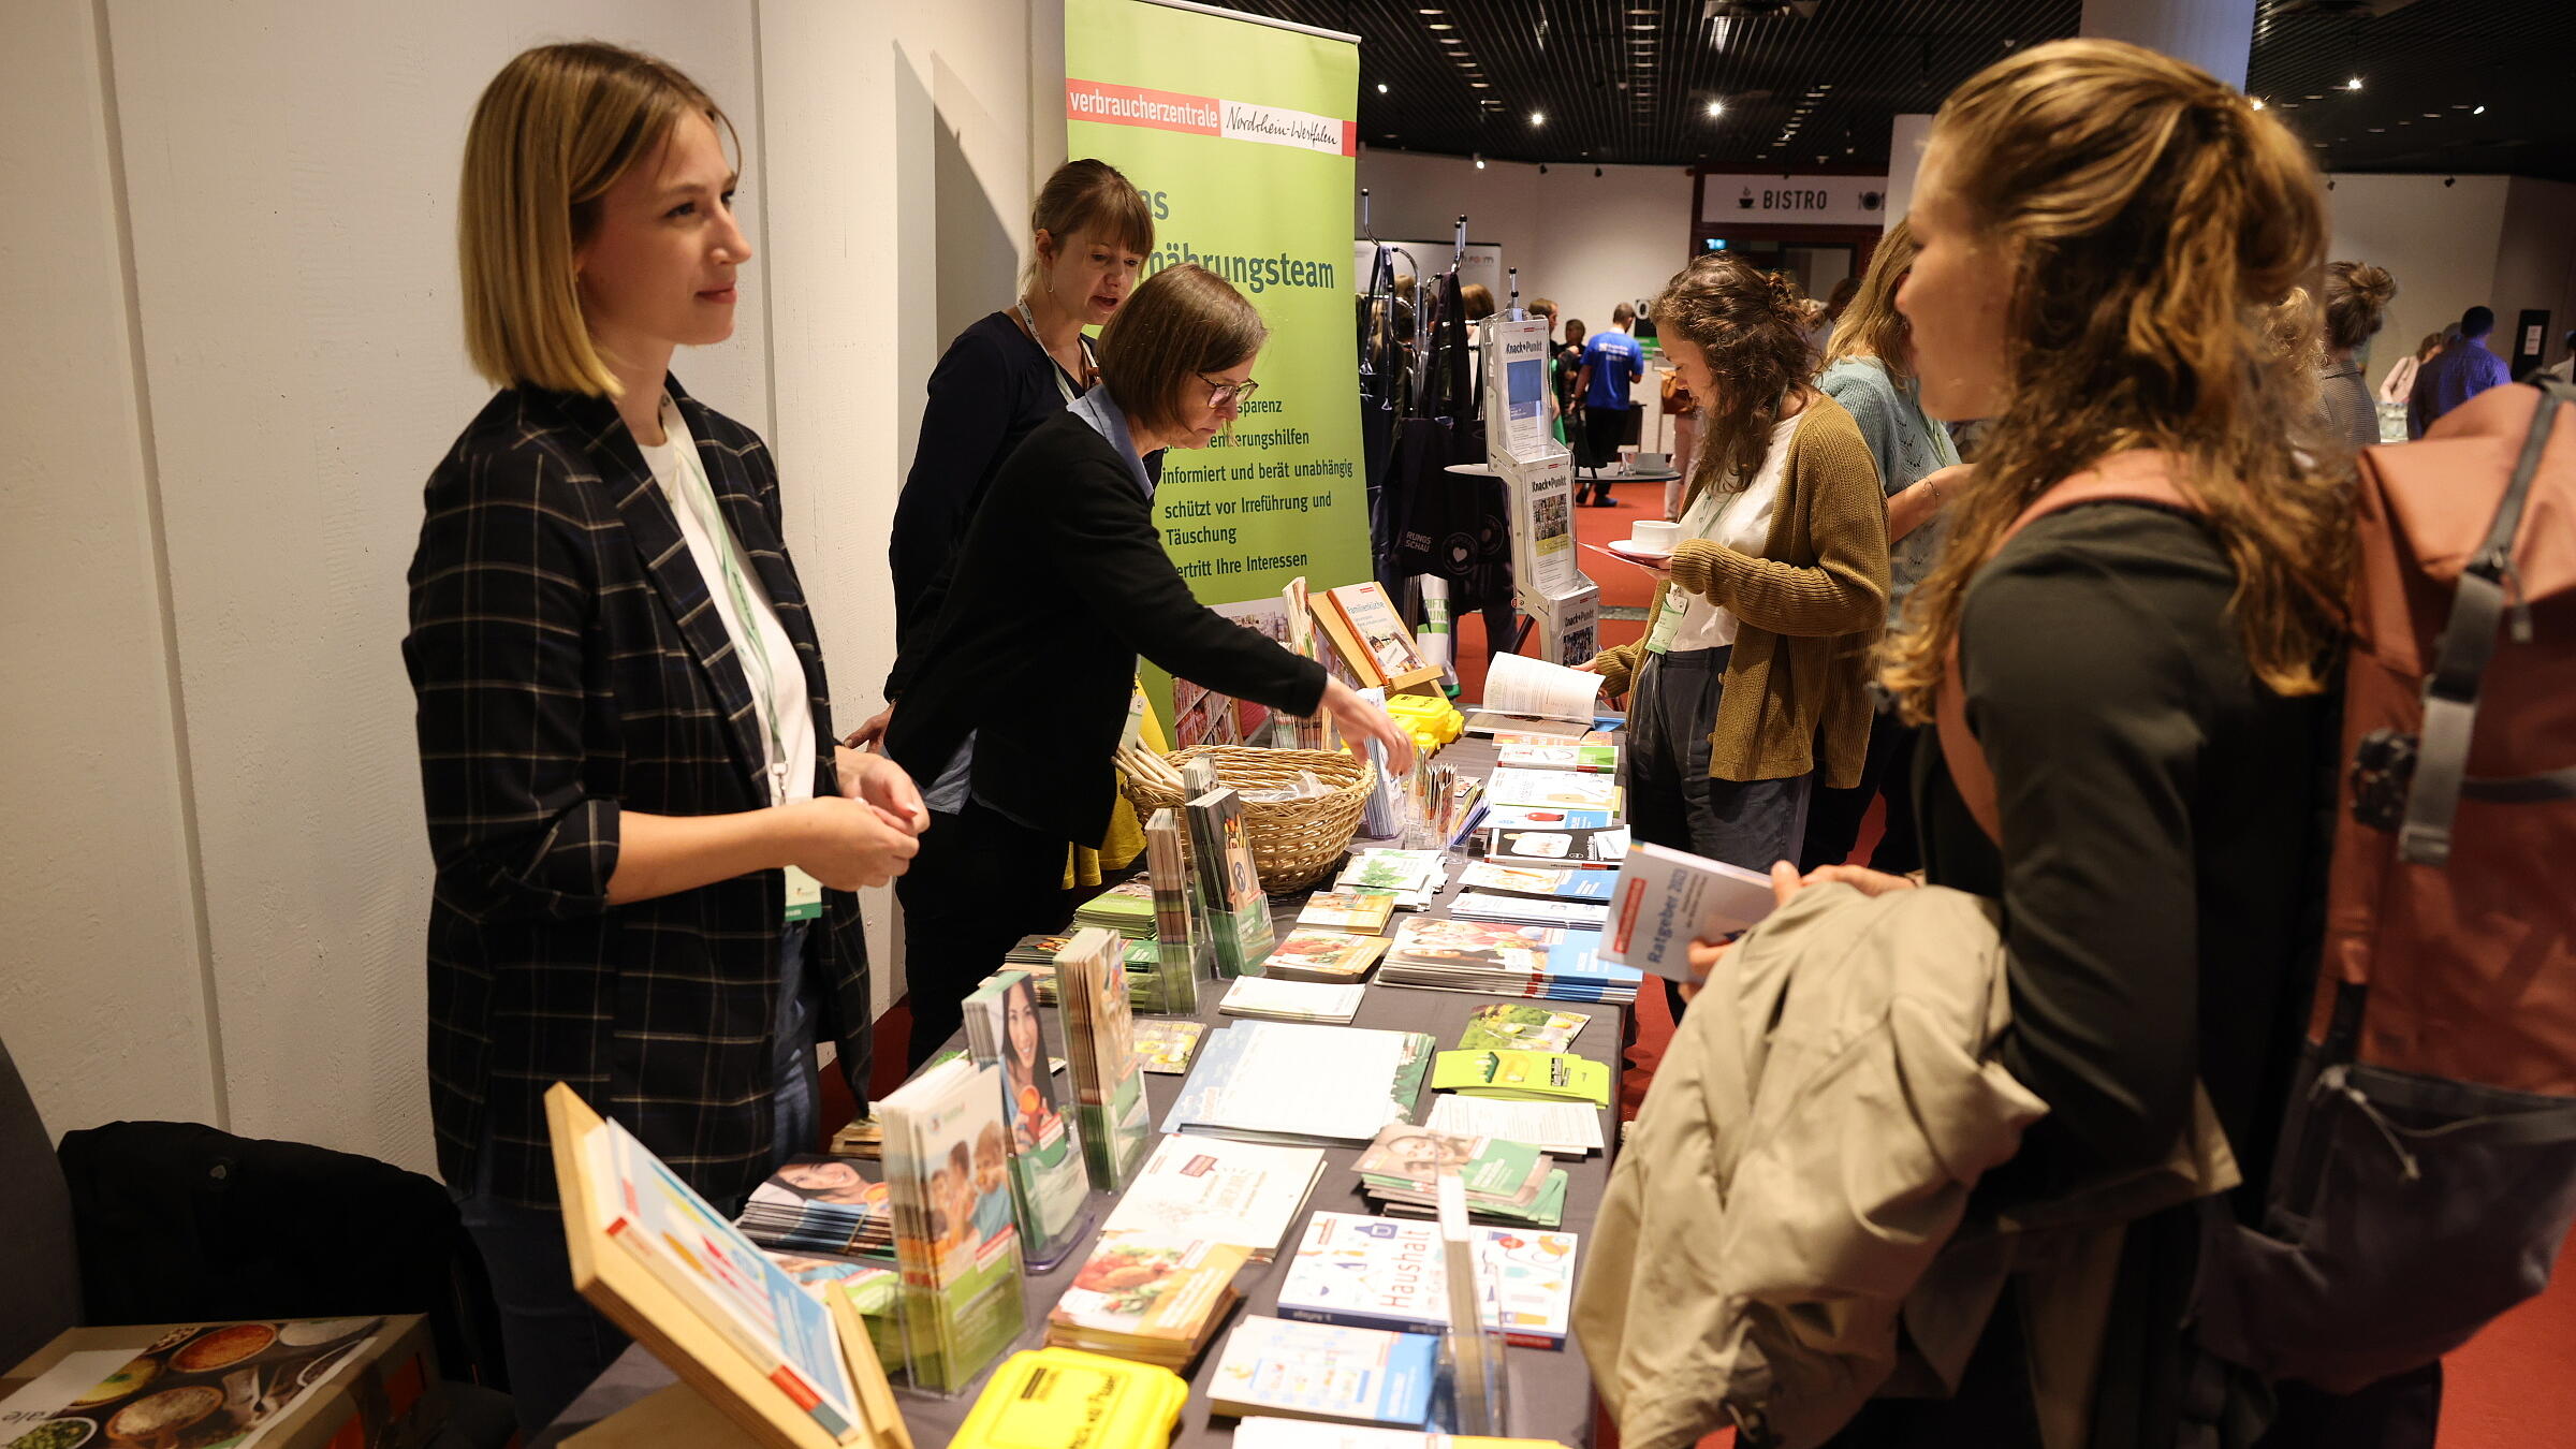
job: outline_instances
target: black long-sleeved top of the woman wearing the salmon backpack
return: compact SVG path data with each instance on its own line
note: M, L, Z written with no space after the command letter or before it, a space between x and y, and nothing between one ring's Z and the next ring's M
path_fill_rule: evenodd
M2316 967L2329 704L2254 676L2233 588L2197 521L2130 503L2040 518L1968 588L1968 724L2012 851L1924 750L1924 866L2002 897L2002 1062L2050 1109L1981 1196L2161 1160L2195 1075L2259 1196Z

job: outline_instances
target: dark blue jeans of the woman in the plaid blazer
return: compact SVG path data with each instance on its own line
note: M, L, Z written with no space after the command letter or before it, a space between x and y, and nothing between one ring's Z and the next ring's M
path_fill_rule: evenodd
M778 938L775 1160L811 1152L819 1132L814 1003L804 946L804 923L788 926ZM551 1207L495 1199L492 1155L484 1152L482 1163L474 1186L456 1194L456 1212L466 1232L474 1235L492 1279L518 1431L523 1439L536 1439L626 1351L629 1338L572 1287L564 1214ZM742 1204L719 1201L716 1207L737 1212Z

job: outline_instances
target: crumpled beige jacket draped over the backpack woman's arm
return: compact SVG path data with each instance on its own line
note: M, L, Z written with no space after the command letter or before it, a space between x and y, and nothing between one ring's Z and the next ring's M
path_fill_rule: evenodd
M2053 1235L1981 1225L1945 1253L1978 1176L2048 1111L1989 1060L2007 1021L1996 905L1955 890L1811 887L1726 951L1646 1093L1574 1294L1620 1444L1736 1423L1798 1449L1883 1387L1955 1390L2014 1271L2048 1276L2022 1294L2050 1315L2032 1325L2043 1418L2053 1444L2081 1444L2117 1230L2063 1225L2223 1191L2236 1163L2202 1101L2164 1168L2032 1214Z

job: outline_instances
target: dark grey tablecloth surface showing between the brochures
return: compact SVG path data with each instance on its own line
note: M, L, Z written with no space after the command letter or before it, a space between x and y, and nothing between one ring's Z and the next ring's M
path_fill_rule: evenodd
M1445 750L1440 750L1440 763L1455 766L1463 773L1481 773L1492 768L1494 748L1486 740L1476 737L1458 740ZM1360 846L1365 846L1365 841ZM1453 879L1448 890L1440 895L1440 900L1432 902L1427 915L1448 915L1448 905L1455 897L1455 892L1458 882ZM1301 905L1303 905L1303 892L1301 897L1273 897L1270 908L1280 936L1293 931L1296 913ZM1394 928L1388 928L1388 933L1391 931ZM1216 1011L1216 1003L1221 998L1224 998L1224 982L1208 982L1200 987L1198 1018L1208 1021L1211 1031L1216 1026L1244 1021ZM1448 1047L1458 1039L1458 1031L1466 1029L1466 1018L1471 1011L1476 1011L1479 1006L1492 1006L1497 1000L1520 1000L1520 998L1370 985L1352 1026L1373 1026L1386 1031L1427 1031L1443 1047ZM1569 1052L1589 1057L1595 1062L1605 1062L1615 1080L1625 1065L1620 1055L1628 1036L1625 1008L1577 1003L1577 1000L1548 1000L1546 1008L1589 1018L1589 1024L1574 1039ZM1054 1006L1043 1008L1043 1016L1048 1018L1046 1034L1051 1044L1064 1042L1056 1013L1059 1008ZM1154 1016L1141 1013L1139 1021L1154 1021ZM963 1034L958 1034L958 1039L951 1042L951 1047L958 1049L963 1049L963 1044L966 1044ZM1146 1080L1146 1096L1154 1106L1154 1122L1162 1122L1164 1111L1180 1096L1180 1088L1188 1078L1146 1075L1144 1080ZM1422 1091L1422 1096L1417 1098L1419 1114L1430 1111L1435 1096L1437 1093L1432 1093L1430 1088ZM1592 1220L1600 1209L1602 1194L1610 1186L1610 1158L1618 1150L1615 1091L1610 1101L1613 1106L1600 1114L1602 1142L1607 1142L1607 1150L1592 1152L1587 1158L1553 1158L1556 1165L1566 1168L1564 1232L1584 1235L1587 1248L1592 1235ZM1314 1194L1306 1201L1306 1212L1298 1214L1301 1225L1298 1230L1303 1230L1306 1217L1319 1209L1370 1212L1368 1199L1360 1194L1360 1176L1352 1171L1358 1160L1360 1160L1358 1147L1324 1147L1324 1173L1321 1178L1316 1178ZM1090 1238L1097 1232L1097 1225L1108 1217L1113 1194L1092 1194L1092 1201L1095 1201L1092 1227L1084 1230L1084 1238L1072 1248L1072 1253L1066 1253L1064 1261L1051 1271L1028 1274L1030 1325L1020 1336L1015 1348L1038 1348L1043 1343L1046 1310L1056 1302L1056 1297L1064 1294L1066 1287L1072 1287L1077 1269L1090 1256ZM1288 1258L1293 1256L1293 1248L1296 1248L1296 1232L1291 1232L1288 1243L1283 1245L1278 1263L1252 1263L1249 1269L1242 1271L1242 1276L1236 1276L1236 1289L1242 1289L1244 1302L1242 1307L1234 1310L1229 1325L1239 1323L1244 1315L1275 1315L1278 1287L1288 1271ZM1579 1261L1577 1271L1582 1271ZM1218 1356L1216 1346L1211 1346L1208 1354L1203 1354L1200 1361L1193 1364L1190 1403L1180 1413L1180 1431L1172 1439L1175 1444L1229 1444L1234 1439L1234 1421L1216 1418L1208 1413L1208 1377L1213 1374L1216 1356ZM1510 1410L1512 1436L1556 1439L1558 1444L1592 1444L1592 1418L1595 1418L1592 1374L1584 1366L1582 1348L1577 1348L1571 1338L1561 1348L1515 1346L1504 1354L1504 1372L1510 1377L1507 1403L1512 1405ZM572 1408L564 1410L564 1415L531 1449L549 1449L554 1444L562 1444L567 1436L580 1434L590 1423L598 1423L613 1415L616 1410L652 1392L665 1390L672 1382L675 1382L672 1372L665 1369L659 1359L654 1359L644 1348L629 1348L616 1364L611 1364L605 1374L600 1374L598 1382L590 1385L590 1390L582 1392L580 1400L572 1403ZM904 1426L912 1431L912 1441L927 1446L927 1444L948 1444L958 1423L966 1418L966 1410L974 1408L976 1392L981 1392L981 1387L984 1382L976 1379L974 1385L969 1385L966 1392L956 1397L935 1397L896 1387L894 1397L902 1408Z

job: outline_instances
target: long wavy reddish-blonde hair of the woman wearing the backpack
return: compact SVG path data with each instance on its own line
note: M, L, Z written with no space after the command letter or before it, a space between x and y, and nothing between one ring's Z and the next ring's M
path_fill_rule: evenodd
M2282 302L2326 263L2326 188L2275 116L2205 70L2099 39L1999 59L1950 93L1924 150L2012 271L2004 397L1940 562L1886 642L1880 683L1932 719L1968 580L2040 492L2130 449L2161 449L2236 570L2228 614L2277 694L2316 694L2339 639L2349 469L2311 438L2316 379L2290 351L2311 307Z

